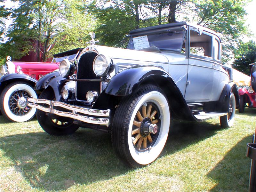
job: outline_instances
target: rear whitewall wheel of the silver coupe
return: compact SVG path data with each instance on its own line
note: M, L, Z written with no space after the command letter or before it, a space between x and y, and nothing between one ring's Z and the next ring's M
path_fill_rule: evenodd
M234 93L231 92L228 100L228 115L220 117L221 127L223 128L232 127L235 121L235 113L236 113L236 98Z

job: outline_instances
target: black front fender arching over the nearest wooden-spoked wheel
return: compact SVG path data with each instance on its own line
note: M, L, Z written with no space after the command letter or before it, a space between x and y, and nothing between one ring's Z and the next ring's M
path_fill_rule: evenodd
M195 121L177 84L166 71L159 67L135 65L126 68L110 79L105 93L120 97L127 96L145 84L154 84L164 91L172 116Z

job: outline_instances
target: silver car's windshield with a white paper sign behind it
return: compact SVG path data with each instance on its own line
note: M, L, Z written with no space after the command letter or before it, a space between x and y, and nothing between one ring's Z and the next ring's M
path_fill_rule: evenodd
M181 52L186 30L165 30L163 33L156 33L144 36L132 36L127 49L139 50L146 47L157 47L161 51Z

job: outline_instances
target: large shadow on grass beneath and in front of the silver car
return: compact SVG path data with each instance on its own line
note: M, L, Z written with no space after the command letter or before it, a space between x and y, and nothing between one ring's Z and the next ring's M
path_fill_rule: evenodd
M173 120L162 156L209 138L218 130L220 124ZM0 148L33 188L47 191L107 180L131 170L114 154L111 136L90 129L80 128L61 137L45 132L10 135L1 138Z

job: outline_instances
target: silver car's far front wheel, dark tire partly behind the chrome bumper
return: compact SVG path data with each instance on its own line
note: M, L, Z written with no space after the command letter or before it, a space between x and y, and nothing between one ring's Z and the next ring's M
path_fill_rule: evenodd
M51 89L45 89L39 99L55 100ZM43 130L50 135L69 135L79 128L78 125L63 120L63 118L52 117L51 114L46 115L44 111L36 110L36 118Z

